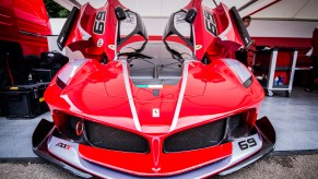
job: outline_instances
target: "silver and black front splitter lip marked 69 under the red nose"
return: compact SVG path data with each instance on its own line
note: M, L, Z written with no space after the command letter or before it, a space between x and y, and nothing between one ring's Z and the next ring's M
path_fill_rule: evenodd
M79 144L52 136L54 130L54 123L43 119L33 134L33 151L38 156L72 174L83 178L93 176L102 178L148 178L117 171L81 158L78 152ZM227 175L256 162L270 153L275 145L275 131L268 118L263 117L257 120L256 130L258 133L232 142L233 151L229 157L179 175L164 176L164 178L204 178L215 174Z

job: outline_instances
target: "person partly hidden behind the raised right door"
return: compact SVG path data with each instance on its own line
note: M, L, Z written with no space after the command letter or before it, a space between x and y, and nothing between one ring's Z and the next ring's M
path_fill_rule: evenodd
M242 21L243 21L244 26L247 28L250 25L251 17L247 15L247 16L244 16ZM250 69L252 67L255 50L256 50L255 40L252 40L248 50L245 50L245 49L238 50L235 52L235 56L238 61L240 61L247 68Z

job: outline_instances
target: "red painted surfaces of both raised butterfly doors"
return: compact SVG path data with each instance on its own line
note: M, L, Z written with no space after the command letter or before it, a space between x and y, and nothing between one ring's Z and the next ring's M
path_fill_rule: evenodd
M192 5L193 4L193 5ZM105 7L99 9L94 9L89 3L81 7L81 14L75 20L76 25L72 27L72 33L68 37L66 46L69 46L72 50L81 50L84 57L96 59L101 61L101 56L105 52L108 60L113 60L118 51L123 45L117 47L116 45L116 27L117 19L114 13L114 7L121 5L118 1L108 1ZM122 5L121 5L122 7ZM125 8L125 7L123 7ZM233 50L237 50L243 46L243 41L239 37L238 31L233 24L228 8L221 3L216 9L209 9L201 5L200 0L193 0L189 3L186 9L196 8L197 17L193 22L195 27L195 38L196 44L202 46L202 48L197 49L196 56L199 60L207 56L213 57L231 57L234 58ZM97 12L106 11L106 24L105 32L103 35L93 33L94 19ZM215 23L217 23L217 36L214 36L207 32L204 26L204 11L213 14ZM86 35L85 35L86 34ZM87 34L90 34L87 36ZM103 39L104 44L97 47L98 39ZM169 38L168 38L169 39ZM133 41L140 40L139 38L133 39ZM74 43L75 41L75 43ZM228 50L231 48L231 50ZM101 55L92 56L87 51L89 49L95 49L93 51L99 51Z

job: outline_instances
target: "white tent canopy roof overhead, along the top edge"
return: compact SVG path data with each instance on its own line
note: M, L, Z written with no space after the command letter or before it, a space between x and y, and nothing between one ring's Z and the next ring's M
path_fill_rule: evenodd
M89 0L55 0L71 10ZM127 8L148 17L166 17L172 12L184 8L190 0L120 0ZM106 0L90 0L93 7L105 4ZM236 7L240 16L251 15L261 20L318 21L318 0L215 0L227 7ZM209 7L215 7L213 0L203 0ZM160 7L160 8L158 8Z

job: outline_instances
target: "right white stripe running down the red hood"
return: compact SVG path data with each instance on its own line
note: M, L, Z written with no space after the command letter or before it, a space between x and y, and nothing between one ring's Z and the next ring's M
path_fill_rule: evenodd
M180 114L180 109L181 109L181 104L182 104L182 100L184 100L184 95L185 95L187 81L188 81L188 70L189 70L189 61L185 61L181 90L180 90L180 93L179 93L177 107L176 107L176 110L175 110L175 115L174 115L173 123L172 123L172 127L170 127L170 131L175 130L176 127L177 127L177 122L178 122L178 118L179 118L179 114Z

